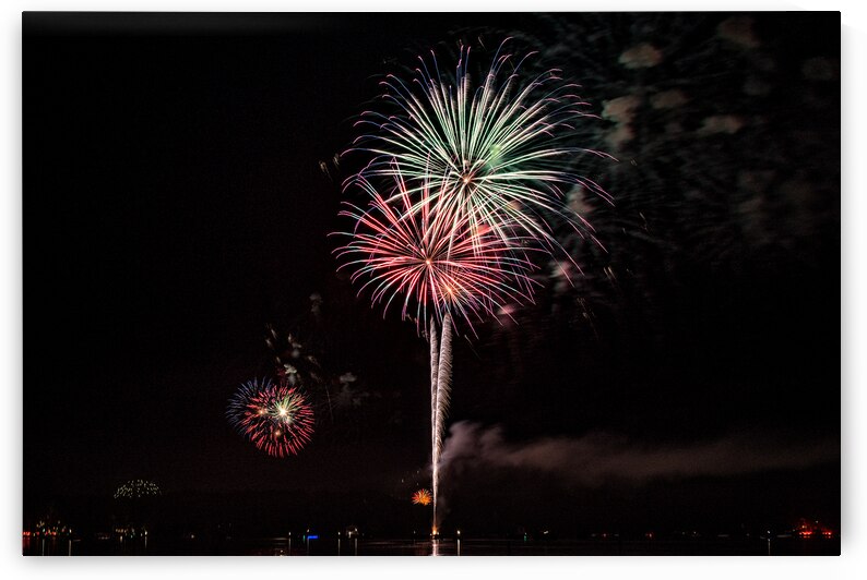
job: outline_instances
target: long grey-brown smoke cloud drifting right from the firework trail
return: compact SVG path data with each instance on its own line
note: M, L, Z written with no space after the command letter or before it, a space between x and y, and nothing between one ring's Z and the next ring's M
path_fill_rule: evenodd
M801 469L839 457L835 442L787 442L758 434L689 445L640 444L605 433L514 444L506 440L499 426L460 422L450 430L441 469L447 476L478 469L535 470L568 484L595 487L609 482L642 484L661 479Z

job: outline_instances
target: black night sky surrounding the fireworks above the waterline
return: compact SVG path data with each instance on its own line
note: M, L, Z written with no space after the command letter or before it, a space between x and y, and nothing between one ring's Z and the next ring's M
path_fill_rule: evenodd
M428 485L426 342L335 273L360 160L332 159L378 75L510 35L583 85L616 205L586 202L607 253L565 240L574 287L543 265L518 325L456 341L449 518L839 524L836 13L26 13L25 521L139 478L312 504ZM623 61L642 43L661 63ZM335 397L283 460L225 420L274 374L266 325Z

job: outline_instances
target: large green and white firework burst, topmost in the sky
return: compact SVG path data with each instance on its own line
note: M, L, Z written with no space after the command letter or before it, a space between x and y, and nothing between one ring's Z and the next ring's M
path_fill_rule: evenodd
M607 157L568 143L575 125L592 117L586 102L556 70L522 83L523 59L515 62L503 45L475 89L468 47L461 47L454 76L440 73L434 53L430 63L419 57L408 82L389 75L383 98L394 110L363 113L358 123L373 131L349 150L373 158L345 185L395 176L396 160L412 194L429 183L444 212L466 219L471 230L485 225L511 243L520 228L551 251L559 244L547 216L557 216L595 240L593 228L562 203L563 191L577 185L608 200L598 184L569 170L582 154Z

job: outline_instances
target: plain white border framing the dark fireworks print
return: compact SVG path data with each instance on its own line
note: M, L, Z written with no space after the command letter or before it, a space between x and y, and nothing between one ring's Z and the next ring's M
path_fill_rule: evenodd
M842 4L842 5L841 5ZM152 578L165 571L209 578L244 578L258 573L307 573L326 578L544 578L548 575L580 575L585 578L786 578L786 580L816 578L853 578L864 564L867 534L864 525L865 486L864 427L860 426L865 408L864 387L864 322L862 297L867 295L864 283L863 257L865 216L864 195L867 194L864 153L865 113L864 63L867 62L867 21L863 2L694 2L620 1L577 2L575 0L539 0L537 2L494 2L491 0L439 0L436 5L405 0L369 0L365 2L313 2L305 0L287 4L278 1L225 2L214 0L159 0L146 2L119 1L7 1L2 3L0 29L0 78L3 81L2 121L0 134L3 155L0 156L0 176L7 186L0 192L0 271L3 274L0 292L0 386L7 390L2 433L3 475L2 504L0 504L0 567L3 576L12 578L96 579L96 578ZM782 10L840 10L842 11L842 77L843 77L843 204L842 204L842 331L843 342L843 556L840 558L748 558L748 557L566 557L566 558L23 558L21 549L21 493L22 493L22 214L21 214L21 12L46 11L190 11L190 12L343 12L343 11L782 11ZM36 218L28 216L28 227L37 227ZM816 307L823 307L816 304ZM835 313L830 313L835 315ZM48 361L47 361L48 362ZM860 380L859 380L860 379ZM821 386L817 386L821 388ZM411 575L411 576L409 576ZM458 575L458 576L456 576Z

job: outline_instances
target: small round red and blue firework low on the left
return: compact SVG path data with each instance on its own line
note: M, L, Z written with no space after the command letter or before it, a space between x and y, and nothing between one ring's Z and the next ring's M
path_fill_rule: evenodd
M229 422L259 449L274 457L297 455L313 433L313 411L287 380L250 380L229 400Z

